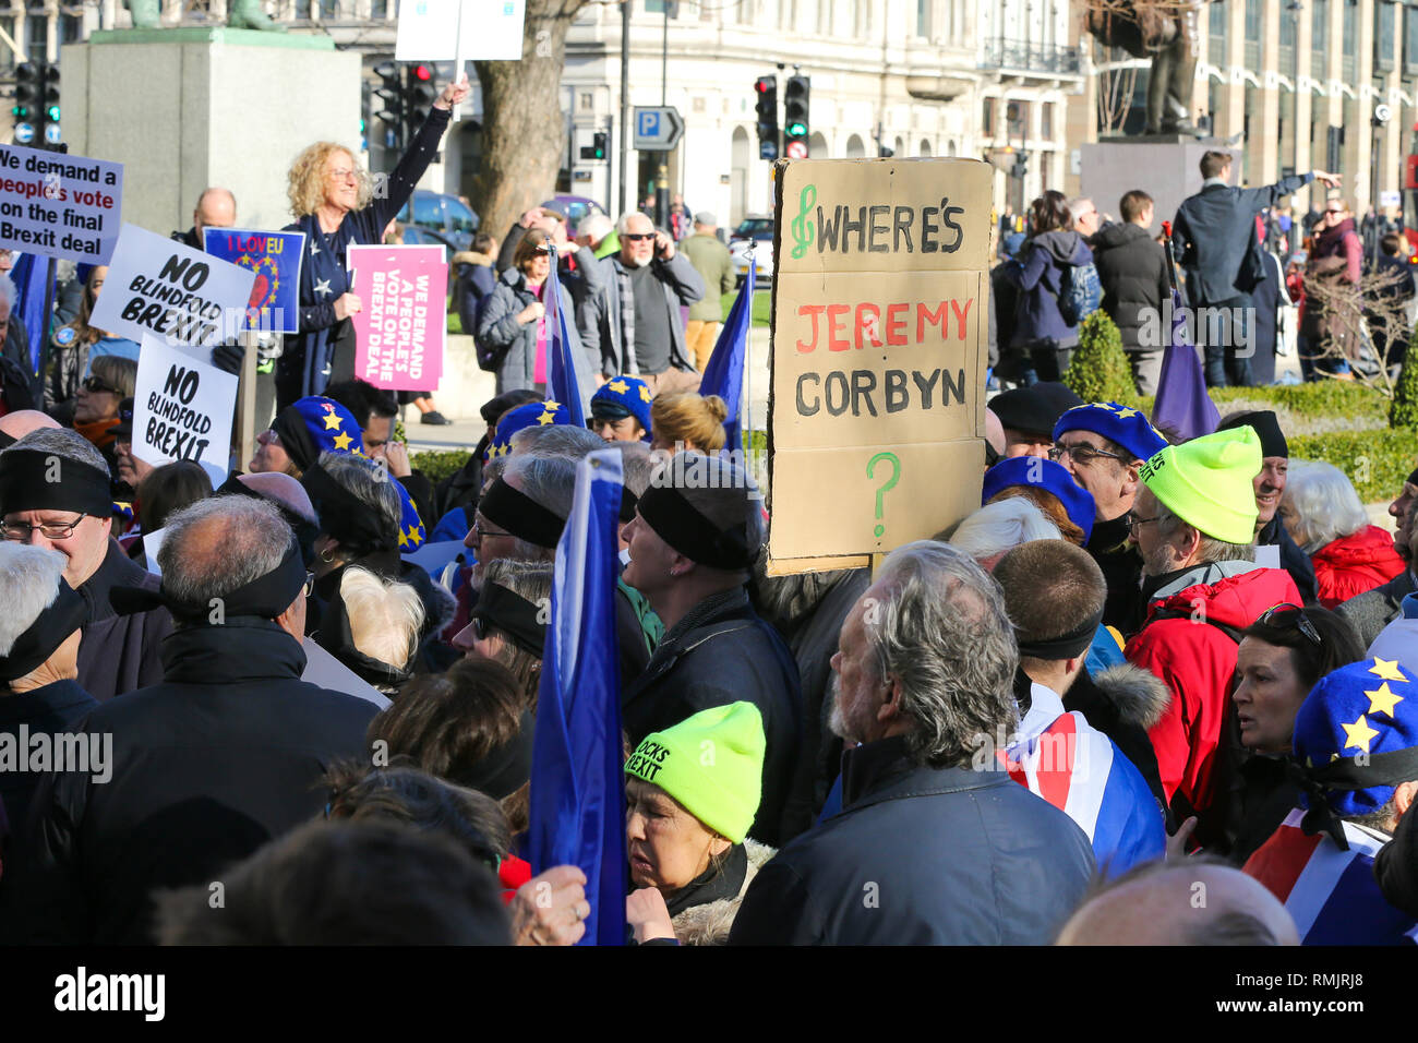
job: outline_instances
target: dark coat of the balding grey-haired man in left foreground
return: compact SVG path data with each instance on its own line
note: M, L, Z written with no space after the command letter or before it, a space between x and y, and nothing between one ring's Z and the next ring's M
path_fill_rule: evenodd
M162 684L88 718L88 732L112 735L106 785L41 783L0 880L6 941L150 942L153 888L221 880L320 813L316 783L335 759L366 755L374 704L301 681L305 653L275 623L179 630L163 666Z

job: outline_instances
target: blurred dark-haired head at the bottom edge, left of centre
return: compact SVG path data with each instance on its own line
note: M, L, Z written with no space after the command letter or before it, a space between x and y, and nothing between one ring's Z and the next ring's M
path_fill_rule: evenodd
M496 878L459 844L391 822L315 822L206 884L162 895L163 945L508 945Z

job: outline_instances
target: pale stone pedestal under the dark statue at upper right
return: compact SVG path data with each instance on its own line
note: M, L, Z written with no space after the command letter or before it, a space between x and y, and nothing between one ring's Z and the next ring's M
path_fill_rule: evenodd
M1232 158L1241 155L1239 149L1217 139L1198 140L1181 135L1105 138L1082 146L1079 192L1093 200L1099 213L1120 221L1117 202L1124 193L1141 189L1154 200L1157 220L1153 233L1160 233L1161 223L1177 216L1181 200L1201 192L1201 158L1211 149L1229 152ZM1241 169L1239 162L1234 166Z

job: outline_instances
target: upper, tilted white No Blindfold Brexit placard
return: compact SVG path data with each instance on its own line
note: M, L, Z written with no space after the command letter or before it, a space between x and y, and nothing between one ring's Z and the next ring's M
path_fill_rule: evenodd
M92 325L132 341L214 348L245 328L255 272L125 224Z

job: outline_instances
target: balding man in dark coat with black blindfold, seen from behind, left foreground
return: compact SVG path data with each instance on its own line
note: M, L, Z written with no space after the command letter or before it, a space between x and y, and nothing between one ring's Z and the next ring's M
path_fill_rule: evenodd
M325 766L364 748L373 704L299 680L306 572L274 505L193 504L167 519L157 561L162 590L130 596L179 622L163 681L88 717L85 735L111 736L111 785L65 771L40 795L4 874L11 941L150 942L155 887L225 878L315 816Z

